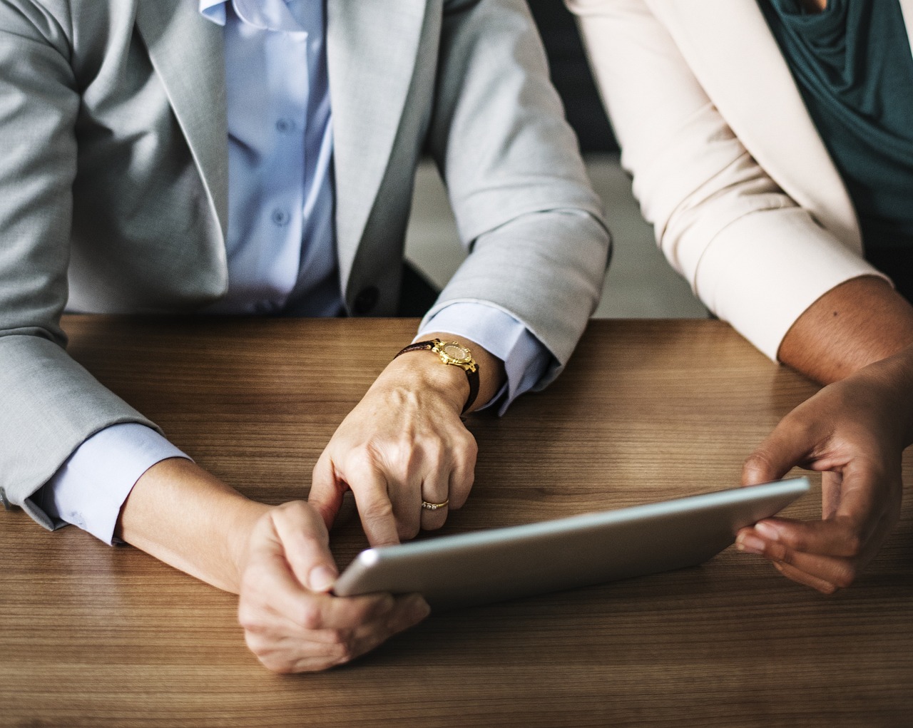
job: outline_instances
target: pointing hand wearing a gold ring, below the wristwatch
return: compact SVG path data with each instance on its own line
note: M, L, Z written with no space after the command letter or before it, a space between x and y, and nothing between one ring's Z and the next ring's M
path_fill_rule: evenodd
M475 477L476 441L460 419L468 391L466 373L431 352L394 359L314 466L309 502L327 527L348 489L373 546L444 525L448 509L466 502ZM448 499L436 510L422 507L423 500Z

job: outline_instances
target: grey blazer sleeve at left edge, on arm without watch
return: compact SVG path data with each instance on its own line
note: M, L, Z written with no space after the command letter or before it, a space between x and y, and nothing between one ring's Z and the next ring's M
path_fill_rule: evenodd
M65 350L79 91L67 5L52 5L0 0L0 489L47 527L29 496L81 442L154 427Z

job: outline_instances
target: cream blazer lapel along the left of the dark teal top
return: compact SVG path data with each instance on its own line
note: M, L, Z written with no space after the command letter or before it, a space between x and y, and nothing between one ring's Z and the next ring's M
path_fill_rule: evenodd
M861 251L853 203L758 5L647 2L751 156L824 227ZM913 0L902 2L913 10Z

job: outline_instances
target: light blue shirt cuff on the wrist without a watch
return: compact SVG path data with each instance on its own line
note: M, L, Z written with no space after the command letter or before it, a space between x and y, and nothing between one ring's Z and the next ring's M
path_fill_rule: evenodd
M173 457L187 455L151 427L111 425L79 445L36 500L57 525L79 526L111 544L133 485L152 465Z

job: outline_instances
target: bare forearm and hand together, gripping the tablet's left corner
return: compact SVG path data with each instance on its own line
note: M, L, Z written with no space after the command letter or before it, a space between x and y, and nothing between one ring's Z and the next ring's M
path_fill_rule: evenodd
M248 500L195 463L156 463L133 486L117 536L235 592L247 645L270 670L352 660L428 614L418 595L332 597L336 565L310 505Z

